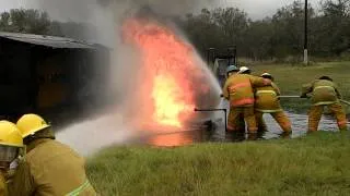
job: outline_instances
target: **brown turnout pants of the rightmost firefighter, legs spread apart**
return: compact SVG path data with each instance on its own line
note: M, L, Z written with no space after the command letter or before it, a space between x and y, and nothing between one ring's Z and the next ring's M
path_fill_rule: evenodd
M323 105L323 106L312 106L308 111L308 132L316 132L318 128L318 123L320 117L324 112L325 106L328 107L329 111L337 119L338 127L340 131L347 130L347 114L340 103Z

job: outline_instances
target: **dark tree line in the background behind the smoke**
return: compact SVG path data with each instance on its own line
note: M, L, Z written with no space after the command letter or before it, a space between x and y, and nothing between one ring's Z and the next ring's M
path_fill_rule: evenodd
M256 61L301 59L303 54L304 0L294 0L262 20L252 20L238 8L214 8L176 16L173 21L203 57L209 48L232 46L237 47L240 57ZM308 24L312 57L349 56L350 0L323 0L319 10L310 4ZM13 9L0 14L0 30L89 39L96 27L51 21L46 12L38 10Z

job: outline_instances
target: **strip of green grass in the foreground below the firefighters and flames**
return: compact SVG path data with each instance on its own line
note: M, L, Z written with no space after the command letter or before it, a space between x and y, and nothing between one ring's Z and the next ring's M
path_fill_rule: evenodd
M105 149L88 160L102 195L350 195L348 133Z

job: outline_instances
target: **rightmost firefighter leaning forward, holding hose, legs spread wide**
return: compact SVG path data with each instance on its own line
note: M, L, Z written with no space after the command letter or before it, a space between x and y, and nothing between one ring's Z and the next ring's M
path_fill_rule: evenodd
M317 131L325 107L336 117L339 130L347 130L347 115L339 101L341 94L330 77L322 76L310 84L303 85L301 98L306 98L307 94L312 95L313 103L308 111L308 132Z

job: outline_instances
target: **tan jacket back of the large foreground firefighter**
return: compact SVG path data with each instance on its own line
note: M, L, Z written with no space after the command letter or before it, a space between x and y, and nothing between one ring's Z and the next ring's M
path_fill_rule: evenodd
M84 159L70 147L39 139L26 155L35 195L96 195L86 174Z

